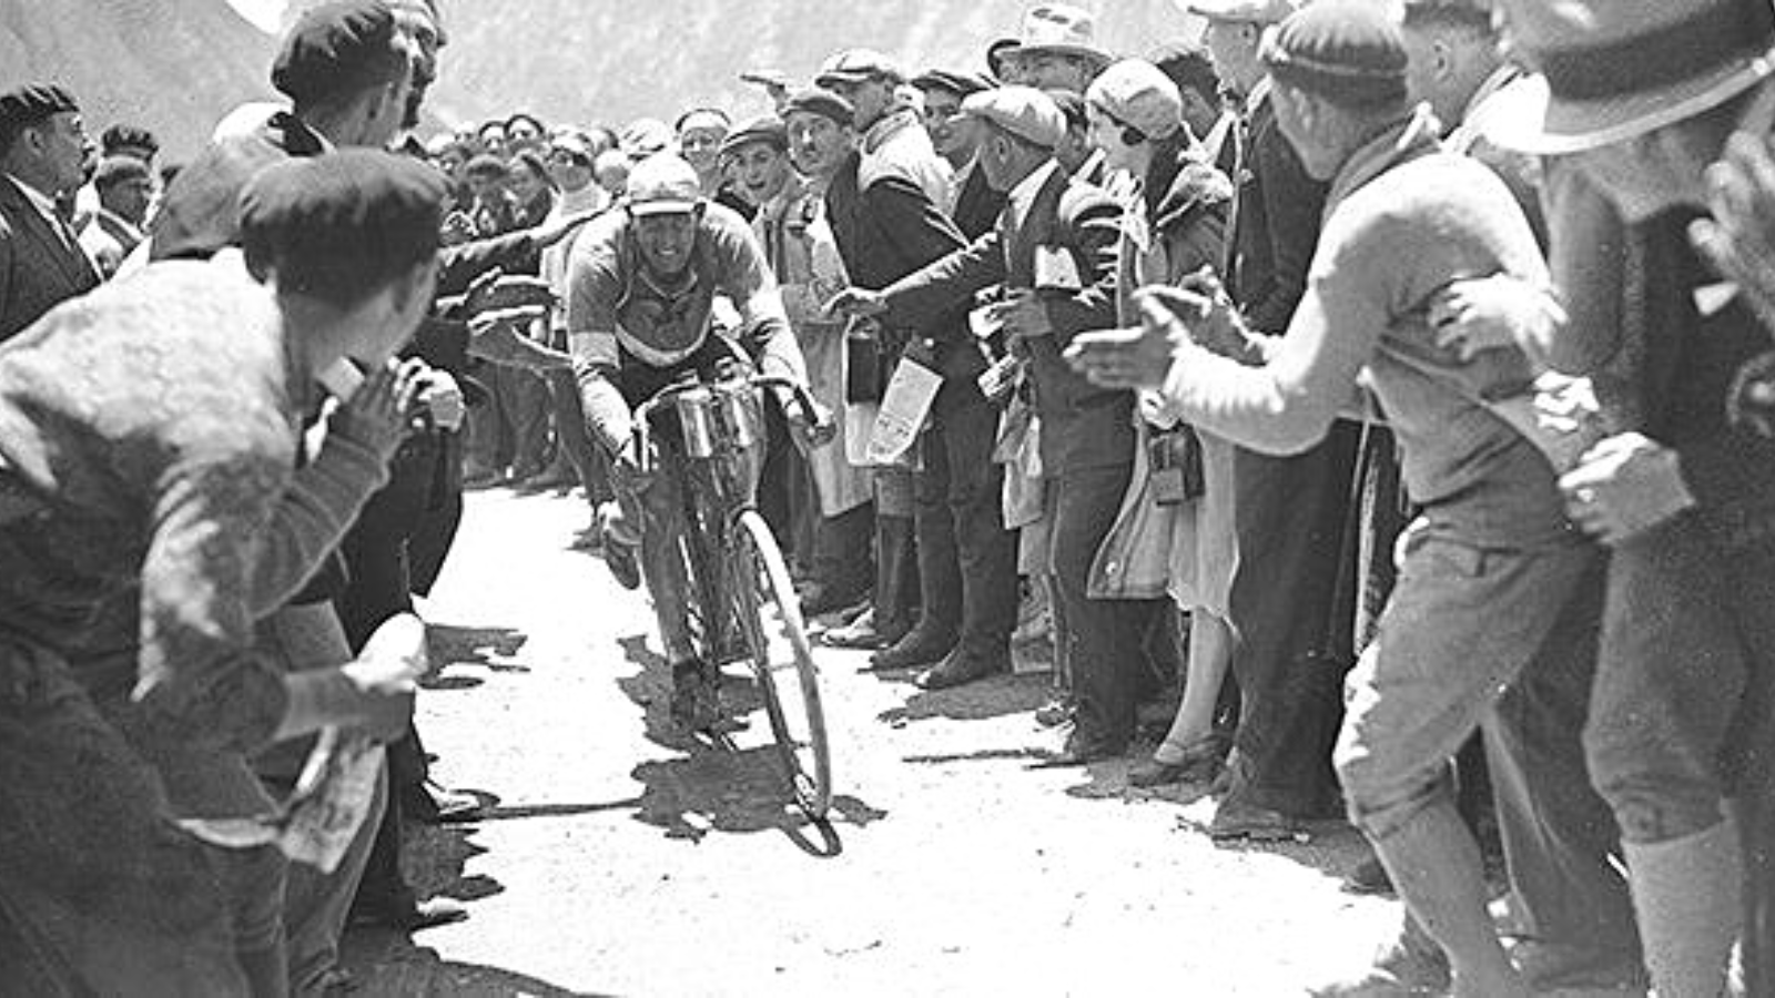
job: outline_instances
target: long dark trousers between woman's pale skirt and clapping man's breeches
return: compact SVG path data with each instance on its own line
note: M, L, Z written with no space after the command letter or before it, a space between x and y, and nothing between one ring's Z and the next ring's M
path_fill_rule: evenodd
M1232 620L1239 684L1228 799L1315 817L1333 810L1331 746L1356 618L1351 494L1361 430L1337 423L1314 449L1239 449L1239 572Z

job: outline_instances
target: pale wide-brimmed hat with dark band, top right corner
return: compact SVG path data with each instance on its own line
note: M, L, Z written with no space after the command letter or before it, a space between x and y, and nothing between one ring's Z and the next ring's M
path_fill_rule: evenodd
M1502 0L1537 76L1486 135L1566 154L1612 146L1709 110L1775 71L1770 0Z

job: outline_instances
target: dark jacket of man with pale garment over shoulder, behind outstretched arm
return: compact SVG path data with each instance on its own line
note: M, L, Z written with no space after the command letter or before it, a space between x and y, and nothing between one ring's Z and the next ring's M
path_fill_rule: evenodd
M911 176L889 172L863 190L859 165L861 156L852 154L825 190L825 218L854 286L879 291L967 245ZM918 321L884 318L893 341L928 339L946 378L976 378L985 371L980 348L966 339L967 302Z

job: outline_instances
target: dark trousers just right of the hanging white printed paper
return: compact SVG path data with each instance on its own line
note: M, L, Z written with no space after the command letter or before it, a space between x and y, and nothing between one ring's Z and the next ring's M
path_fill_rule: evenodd
M1017 625L1017 540L1005 529L996 433L998 410L976 385L943 385L916 476L919 627L958 634L971 655L1006 655Z

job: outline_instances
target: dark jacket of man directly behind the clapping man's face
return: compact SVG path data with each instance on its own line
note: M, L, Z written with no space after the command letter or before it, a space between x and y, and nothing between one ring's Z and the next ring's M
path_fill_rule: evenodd
M1326 185L1306 176L1301 158L1276 128L1269 99L1251 112L1248 135L1244 162L1234 176L1239 201L1227 288L1246 325L1280 334L1306 291Z

